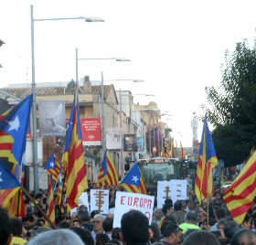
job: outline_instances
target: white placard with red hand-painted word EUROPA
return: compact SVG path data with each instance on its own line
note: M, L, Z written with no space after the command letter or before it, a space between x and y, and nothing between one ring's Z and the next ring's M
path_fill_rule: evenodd
M155 197L118 191L116 192L113 227L121 227L121 218L130 210L139 210L149 219L151 224Z

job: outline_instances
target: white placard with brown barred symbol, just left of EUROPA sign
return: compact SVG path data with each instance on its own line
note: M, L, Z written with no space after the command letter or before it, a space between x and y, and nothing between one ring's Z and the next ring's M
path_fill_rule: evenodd
M91 189L91 212L99 210L100 214L109 213L109 190Z

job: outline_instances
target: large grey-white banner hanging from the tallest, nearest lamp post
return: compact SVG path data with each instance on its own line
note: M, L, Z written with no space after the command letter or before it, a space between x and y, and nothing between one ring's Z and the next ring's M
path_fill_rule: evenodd
M41 137L64 136L65 101L38 101L38 122Z

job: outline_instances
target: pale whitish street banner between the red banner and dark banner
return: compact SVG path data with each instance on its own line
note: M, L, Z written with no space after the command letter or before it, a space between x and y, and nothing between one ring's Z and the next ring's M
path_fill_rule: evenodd
M117 150L122 148L122 134L120 127L106 129L106 147L108 150Z

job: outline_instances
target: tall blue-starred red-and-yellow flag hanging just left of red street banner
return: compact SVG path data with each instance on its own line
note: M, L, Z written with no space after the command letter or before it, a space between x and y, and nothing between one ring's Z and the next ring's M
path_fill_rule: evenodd
M69 129L64 152L64 164L67 166L67 211L78 206L78 199L87 188L86 167L80 133L80 109L77 88L69 117Z

